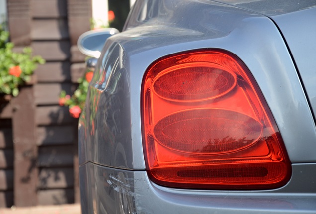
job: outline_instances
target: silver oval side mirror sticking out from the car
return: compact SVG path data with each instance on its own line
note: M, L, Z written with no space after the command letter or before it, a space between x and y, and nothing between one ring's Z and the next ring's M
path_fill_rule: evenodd
M119 31L115 28L104 28L85 32L77 41L79 51L87 56L99 58L105 41L117 33L119 33Z

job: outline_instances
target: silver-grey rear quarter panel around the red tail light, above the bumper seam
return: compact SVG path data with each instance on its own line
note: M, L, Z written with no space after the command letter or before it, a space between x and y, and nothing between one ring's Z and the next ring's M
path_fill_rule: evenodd
M144 170L140 93L147 67L162 56L206 48L227 50L246 64L272 111L291 162L315 162L311 110L274 23L210 1L162 2L163 11L156 17L146 21L144 15L139 26L127 24L128 30L107 41L90 84L87 100L92 105L79 123L84 125L79 132L85 133L79 134L80 164L91 161ZM173 12L165 17L167 9ZM122 156L124 163L115 156Z

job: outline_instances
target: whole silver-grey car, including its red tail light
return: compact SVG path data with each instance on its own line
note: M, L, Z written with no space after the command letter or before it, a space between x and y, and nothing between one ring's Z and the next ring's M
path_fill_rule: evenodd
M83 214L316 213L316 0L137 0L88 51Z

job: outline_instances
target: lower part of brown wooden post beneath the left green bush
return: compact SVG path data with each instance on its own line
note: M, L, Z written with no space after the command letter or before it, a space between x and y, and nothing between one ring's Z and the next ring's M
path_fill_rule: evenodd
M14 205L37 205L37 146L33 87L23 87L12 100L14 142Z

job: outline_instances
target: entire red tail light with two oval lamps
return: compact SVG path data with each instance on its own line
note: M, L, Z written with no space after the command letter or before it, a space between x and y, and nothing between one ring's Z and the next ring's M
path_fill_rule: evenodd
M142 84L147 172L161 185L268 189L291 167L248 69L228 52L194 51L153 63Z

